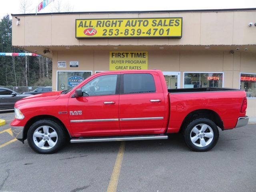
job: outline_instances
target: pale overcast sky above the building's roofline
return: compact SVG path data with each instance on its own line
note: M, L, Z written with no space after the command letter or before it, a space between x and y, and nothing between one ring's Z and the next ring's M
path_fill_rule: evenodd
M0 0L0 18L6 14L20 14L22 0ZM26 0L30 3L30 12L36 12L36 6L42 0ZM142 10L191 10L256 8L256 0L55 0L40 13L56 12L54 5L60 1L62 10L69 5L73 12L82 11L142 11Z

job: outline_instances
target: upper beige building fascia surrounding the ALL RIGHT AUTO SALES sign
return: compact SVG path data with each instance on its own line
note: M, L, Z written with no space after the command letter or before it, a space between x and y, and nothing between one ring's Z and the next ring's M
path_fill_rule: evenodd
M75 19L183 17L181 39L75 38ZM256 27L248 27L256 11L127 14L69 14L12 18L14 46L74 45L246 45L256 44Z

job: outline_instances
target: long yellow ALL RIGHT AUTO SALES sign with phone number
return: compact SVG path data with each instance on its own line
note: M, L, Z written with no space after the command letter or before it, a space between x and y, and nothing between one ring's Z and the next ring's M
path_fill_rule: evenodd
M76 38L181 38L182 17L76 19Z

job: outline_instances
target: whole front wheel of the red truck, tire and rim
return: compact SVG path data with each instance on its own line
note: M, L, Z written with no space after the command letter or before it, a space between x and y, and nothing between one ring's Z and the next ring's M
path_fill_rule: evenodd
M52 154L60 150L65 142L62 127L48 119L34 122L27 137L29 146L40 154Z

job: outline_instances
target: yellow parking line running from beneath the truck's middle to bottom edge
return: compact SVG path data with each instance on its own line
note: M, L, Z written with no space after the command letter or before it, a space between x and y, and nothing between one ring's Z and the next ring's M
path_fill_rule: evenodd
M116 157L116 163L114 165L114 169L108 184L108 190L107 192L116 192L117 184L118 184L118 179L120 175L120 170L122 166L122 160L124 157L124 149L125 149L125 142L121 142L119 151Z

